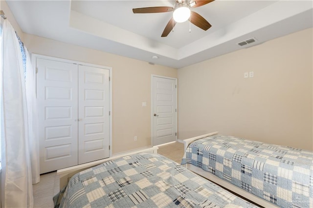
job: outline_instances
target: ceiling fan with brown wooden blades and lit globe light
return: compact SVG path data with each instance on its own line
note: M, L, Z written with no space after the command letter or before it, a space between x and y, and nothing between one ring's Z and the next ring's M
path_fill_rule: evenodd
M203 6L207 3L210 3L214 0L176 0L175 7L170 6L154 6L154 7L143 7L133 9L134 14L137 13L161 13L161 12L172 12L173 17L165 26L161 37L166 37L171 30L174 28L177 22L184 22L189 20L191 23L200 27L203 30L207 30L211 27L211 24L206 21L200 14L197 12L191 11L190 8L195 8ZM185 12L185 16L182 19L181 13Z

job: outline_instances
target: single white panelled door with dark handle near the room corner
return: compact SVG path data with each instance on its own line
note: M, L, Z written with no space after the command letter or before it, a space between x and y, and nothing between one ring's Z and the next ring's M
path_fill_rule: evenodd
M177 140L177 79L152 76L153 145Z

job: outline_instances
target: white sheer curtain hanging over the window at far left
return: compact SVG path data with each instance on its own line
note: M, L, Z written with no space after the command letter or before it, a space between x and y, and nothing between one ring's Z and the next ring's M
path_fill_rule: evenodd
M26 71L25 83L21 47L7 20L2 25L0 50L1 204L33 207L32 180L39 182L35 81L32 72ZM29 56L26 60L27 70L32 70Z

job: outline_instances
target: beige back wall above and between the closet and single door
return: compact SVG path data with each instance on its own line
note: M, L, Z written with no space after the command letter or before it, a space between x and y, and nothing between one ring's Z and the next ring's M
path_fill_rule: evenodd
M23 42L30 53L111 66L113 154L151 145L151 74L177 78L177 69L29 34Z

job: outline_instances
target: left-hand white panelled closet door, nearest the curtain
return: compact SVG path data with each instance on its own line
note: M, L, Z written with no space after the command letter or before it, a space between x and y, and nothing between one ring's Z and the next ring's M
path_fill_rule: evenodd
M40 173L78 162L77 64L37 59Z

